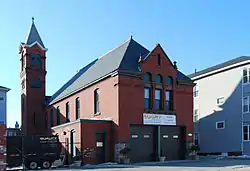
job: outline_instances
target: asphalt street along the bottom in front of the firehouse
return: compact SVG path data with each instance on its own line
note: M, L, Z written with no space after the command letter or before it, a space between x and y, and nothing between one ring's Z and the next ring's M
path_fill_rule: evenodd
M98 165L82 168L61 168L55 170L90 171L250 171L250 160L205 160L179 163L145 163L129 166Z

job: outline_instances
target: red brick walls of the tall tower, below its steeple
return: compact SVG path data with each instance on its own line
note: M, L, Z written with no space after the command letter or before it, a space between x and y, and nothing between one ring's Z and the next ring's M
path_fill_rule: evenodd
M31 54L40 54L41 68L40 70L32 70ZM24 134L43 134L45 132L45 111L43 104L45 101L45 75L46 75L46 58L45 51L42 51L37 45L31 48L23 48L21 58L24 58L24 66L26 69L20 73L20 86L22 88L22 80L25 80L25 88L21 91L21 97L24 98L24 108L22 109L22 131ZM21 63L21 61L20 61ZM32 68L37 68L32 66ZM31 88L31 80L40 78L41 87ZM32 106L32 108L30 107ZM34 118L35 113L35 118Z

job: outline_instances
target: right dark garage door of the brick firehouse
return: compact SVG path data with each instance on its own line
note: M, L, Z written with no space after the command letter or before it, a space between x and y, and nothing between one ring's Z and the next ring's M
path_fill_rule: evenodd
M161 150L166 160L185 158L185 127L161 126Z

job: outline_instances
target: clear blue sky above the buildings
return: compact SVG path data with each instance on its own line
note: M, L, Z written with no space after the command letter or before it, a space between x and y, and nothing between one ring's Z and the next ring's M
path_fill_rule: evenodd
M8 125L20 121L20 58L31 18L48 48L46 94L78 69L133 35L152 50L160 43L186 73L250 55L250 1L2 1L0 85L8 93Z

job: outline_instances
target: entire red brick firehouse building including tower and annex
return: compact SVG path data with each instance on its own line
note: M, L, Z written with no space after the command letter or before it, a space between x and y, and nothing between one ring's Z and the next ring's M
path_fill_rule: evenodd
M52 96L45 95L46 51L33 21L19 50L23 134L57 134L85 163L115 161L124 147L131 162L186 157L194 83L160 44L150 51L130 37Z

